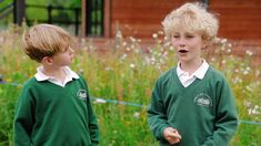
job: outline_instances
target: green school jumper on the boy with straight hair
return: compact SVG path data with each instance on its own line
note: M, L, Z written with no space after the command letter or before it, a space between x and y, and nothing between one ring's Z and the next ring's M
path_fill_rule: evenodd
M98 145L99 129L84 80L64 87L49 81L29 80L14 115L16 146Z

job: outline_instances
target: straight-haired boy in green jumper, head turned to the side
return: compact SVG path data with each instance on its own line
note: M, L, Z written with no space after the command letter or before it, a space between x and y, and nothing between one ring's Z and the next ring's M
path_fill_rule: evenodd
M84 79L68 66L72 39L52 24L37 24L22 36L23 51L39 62L23 85L14 115L14 145L98 145L99 128Z

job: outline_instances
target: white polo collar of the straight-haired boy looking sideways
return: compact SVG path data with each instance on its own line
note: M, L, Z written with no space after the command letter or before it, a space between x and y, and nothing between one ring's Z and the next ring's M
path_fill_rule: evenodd
M37 67L37 74L34 75L34 77L39 82L41 82L41 81L50 81L51 83L60 85L62 87L64 87L66 84L68 82L72 81L73 79L79 79L79 75L76 72L73 72L69 66L64 66L62 70L66 73L66 79L64 79L63 83L60 80L56 79L54 76L46 75L43 73L43 66Z

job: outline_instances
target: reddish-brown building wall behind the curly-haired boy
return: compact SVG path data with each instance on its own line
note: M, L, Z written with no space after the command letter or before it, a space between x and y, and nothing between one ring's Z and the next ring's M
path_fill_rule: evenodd
M164 15L185 1L110 0L109 36L114 36L118 22L123 35L150 39L152 33L161 30ZM260 0L210 0L209 10L219 13L220 36L261 40Z

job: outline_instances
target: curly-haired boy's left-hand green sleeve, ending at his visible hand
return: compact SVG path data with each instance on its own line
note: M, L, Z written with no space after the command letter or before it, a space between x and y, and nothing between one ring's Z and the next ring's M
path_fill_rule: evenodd
M155 83L151 95L151 103L148 107L148 122L150 129L158 140L164 139L163 131L169 127L163 107L161 87L159 81Z

